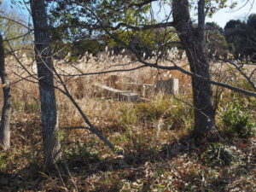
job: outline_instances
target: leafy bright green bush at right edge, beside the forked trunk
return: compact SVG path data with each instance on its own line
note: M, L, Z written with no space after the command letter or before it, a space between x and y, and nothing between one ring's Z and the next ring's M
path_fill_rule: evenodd
M238 102L231 103L222 115L225 131L233 137L253 137L255 124L250 114L241 110Z

